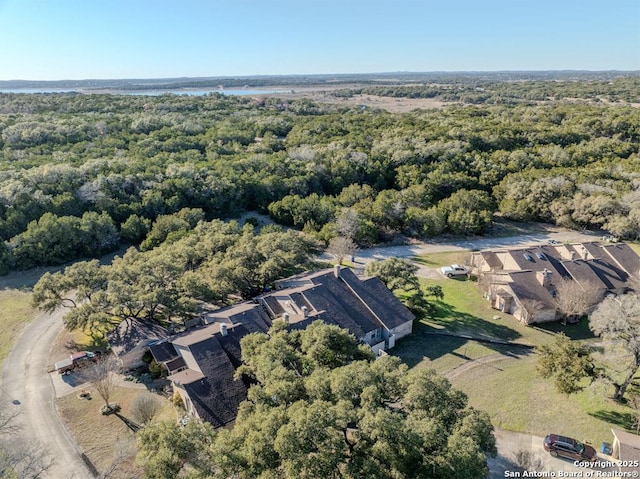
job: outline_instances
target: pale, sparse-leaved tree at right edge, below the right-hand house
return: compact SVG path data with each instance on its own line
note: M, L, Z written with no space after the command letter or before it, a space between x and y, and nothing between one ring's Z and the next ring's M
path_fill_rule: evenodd
M640 296L628 293L605 298L589 318L589 329L602 338L602 374L621 401L640 370Z

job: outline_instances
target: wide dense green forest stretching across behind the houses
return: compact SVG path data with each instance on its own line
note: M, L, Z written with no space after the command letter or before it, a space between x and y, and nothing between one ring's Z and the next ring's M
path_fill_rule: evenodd
M609 83L571 88L584 98L594 85ZM639 145L640 110L605 102L395 114L217 94L1 94L0 270L152 249L246 211L362 246L479 234L495 213L635 239Z

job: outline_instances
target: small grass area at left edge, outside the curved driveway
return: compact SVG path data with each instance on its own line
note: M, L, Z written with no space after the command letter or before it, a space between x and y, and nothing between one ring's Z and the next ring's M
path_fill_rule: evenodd
M0 366L33 314L30 293L16 289L0 290Z

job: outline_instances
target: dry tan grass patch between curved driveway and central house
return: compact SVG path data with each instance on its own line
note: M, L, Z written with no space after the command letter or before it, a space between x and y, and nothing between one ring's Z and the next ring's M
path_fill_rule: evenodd
M91 400L80 399L70 394L57 400L60 416L80 448L99 472L103 472L116 459L119 449L135 439L134 433L116 415L103 416L100 408L104 401L92 387L87 387ZM130 407L133 399L144 389L118 387L110 399L121 407L120 415L131 419ZM163 407L156 420L175 420L176 413L169 400L162 398ZM133 451L135 452L135 451ZM131 470L133 459L124 464Z

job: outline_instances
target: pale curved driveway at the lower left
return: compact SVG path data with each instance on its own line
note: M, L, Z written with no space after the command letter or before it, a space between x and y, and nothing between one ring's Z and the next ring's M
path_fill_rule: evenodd
M42 453L53 458L53 466L41 477L85 479L93 474L81 452L61 423L55 406L55 391L47 373L51 345L62 330L62 315L39 314L18 338L2 369L0 382L11 407L20 408L20 435L28 443L42 445Z

